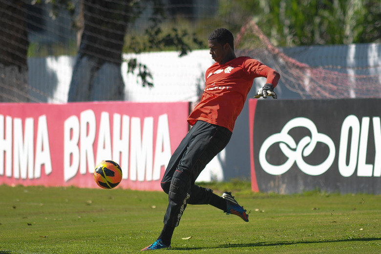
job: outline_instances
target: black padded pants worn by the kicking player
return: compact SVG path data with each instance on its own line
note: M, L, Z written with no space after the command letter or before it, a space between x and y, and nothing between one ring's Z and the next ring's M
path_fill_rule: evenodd
M211 189L194 184L198 175L214 156L228 144L232 132L225 127L197 121L169 160L161 181L168 194L164 224L177 227L187 204L209 204Z

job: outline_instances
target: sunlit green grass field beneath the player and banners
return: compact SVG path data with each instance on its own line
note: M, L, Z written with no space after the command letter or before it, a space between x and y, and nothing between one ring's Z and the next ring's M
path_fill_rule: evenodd
M154 253L380 254L381 196L235 190L249 223L189 205L169 250ZM0 185L0 254L139 253L163 226L162 192ZM190 239L182 239L189 238Z

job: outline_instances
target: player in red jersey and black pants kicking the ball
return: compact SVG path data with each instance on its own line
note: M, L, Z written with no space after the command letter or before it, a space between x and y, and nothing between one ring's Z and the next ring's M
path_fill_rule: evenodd
M254 97L276 98L274 87L280 75L274 69L247 56L236 57L233 34L226 28L214 30L208 37L210 54L216 61L205 73L205 90L200 103L188 117L193 127L169 160L161 181L168 194L164 227L157 240L142 251L169 248L175 227L187 204L212 205L227 214L248 222L246 210L238 205L231 192L222 196L195 185L198 175L228 144L237 116L256 77L266 77L266 84Z

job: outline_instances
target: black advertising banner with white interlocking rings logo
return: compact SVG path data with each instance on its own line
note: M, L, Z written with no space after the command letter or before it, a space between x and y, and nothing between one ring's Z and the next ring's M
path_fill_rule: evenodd
M381 194L381 99L249 104L254 191Z

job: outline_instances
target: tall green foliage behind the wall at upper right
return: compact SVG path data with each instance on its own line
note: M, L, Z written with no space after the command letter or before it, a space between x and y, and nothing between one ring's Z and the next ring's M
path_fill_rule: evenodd
M233 18L234 29L254 18L275 46L371 43L381 38L378 0L220 1L220 15Z

